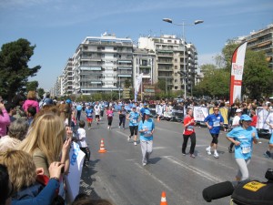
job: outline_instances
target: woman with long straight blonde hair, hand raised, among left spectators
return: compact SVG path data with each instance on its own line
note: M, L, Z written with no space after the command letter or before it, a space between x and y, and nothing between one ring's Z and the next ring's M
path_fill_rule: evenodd
M19 149L29 153L34 159L36 168L43 168L46 176L49 177L48 168L53 161L65 164L64 173L67 174L71 138L72 131L66 130L62 119L54 113L46 113L35 119L34 125Z

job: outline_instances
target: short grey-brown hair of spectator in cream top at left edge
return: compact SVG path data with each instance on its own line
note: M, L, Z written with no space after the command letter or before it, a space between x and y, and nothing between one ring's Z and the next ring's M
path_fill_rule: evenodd
M17 118L13 121L8 127L8 136L11 138L18 138L19 140L23 140L28 130L27 121L23 118Z

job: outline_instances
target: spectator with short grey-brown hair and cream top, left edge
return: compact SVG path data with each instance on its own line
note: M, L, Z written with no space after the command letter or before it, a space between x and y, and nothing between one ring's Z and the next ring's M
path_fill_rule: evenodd
M8 129L8 135L0 138L0 152L7 149L15 149L25 138L28 124L23 118L18 118L12 122Z

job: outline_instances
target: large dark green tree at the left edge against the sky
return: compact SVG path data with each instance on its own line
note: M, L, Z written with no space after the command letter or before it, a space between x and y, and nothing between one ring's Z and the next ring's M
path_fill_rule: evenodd
M11 101L16 92L24 89L28 77L35 77L40 66L28 67L35 46L20 38L4 44L0 51L0 95Z

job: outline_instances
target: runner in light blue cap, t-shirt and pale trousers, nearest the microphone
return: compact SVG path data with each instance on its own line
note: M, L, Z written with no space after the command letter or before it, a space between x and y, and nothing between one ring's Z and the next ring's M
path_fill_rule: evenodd
M250 126L251 118L244 114L240 118L240 125L227 133L227 139L235 144L235 160L238 164L237 180L246 180L249 177L248 164L250 163L253 142L258 143L257 129Z

